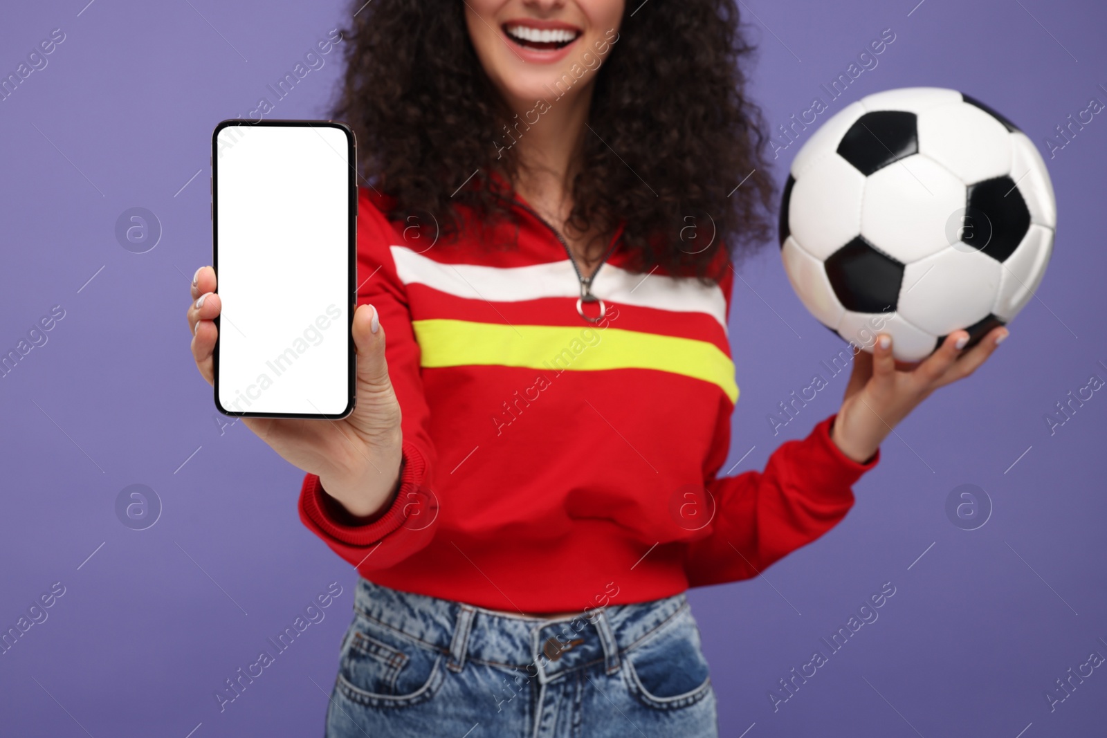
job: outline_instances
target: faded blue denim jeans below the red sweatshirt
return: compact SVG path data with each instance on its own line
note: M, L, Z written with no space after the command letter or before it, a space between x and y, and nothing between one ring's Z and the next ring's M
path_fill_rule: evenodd
M544 620L362 579L328 738L715 738L686 597Z

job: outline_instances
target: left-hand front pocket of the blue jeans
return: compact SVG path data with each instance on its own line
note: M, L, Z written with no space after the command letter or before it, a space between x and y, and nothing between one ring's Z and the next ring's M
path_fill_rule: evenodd
M443 654L361 615L346 634L338 689L369 707L405 707L434 697L446 675Z

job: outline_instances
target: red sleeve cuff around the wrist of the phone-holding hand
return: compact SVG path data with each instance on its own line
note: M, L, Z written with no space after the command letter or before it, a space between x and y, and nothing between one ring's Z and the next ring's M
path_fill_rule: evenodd
M395 498L383 511L362 523L345 514L338 501L323 490L319 477L309 474L300 491L300 517L304 524L319 536L356 547L373 545L399 530L407 520L407 507L420 492L426 472L426 462L415 446L404 441L402 453Z

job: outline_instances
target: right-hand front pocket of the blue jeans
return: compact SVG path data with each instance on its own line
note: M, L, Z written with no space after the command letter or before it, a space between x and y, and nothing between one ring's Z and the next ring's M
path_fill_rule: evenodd
M700 631L685 611L625 652L630 692L648 707L680 709L711 694Z

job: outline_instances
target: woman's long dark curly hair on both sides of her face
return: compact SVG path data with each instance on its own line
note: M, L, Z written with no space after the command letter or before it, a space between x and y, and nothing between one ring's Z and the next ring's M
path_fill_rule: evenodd
M480 222L511 220L505 183L516 181L519 163L497 142L513 114L473 49L464 3L351 8L360 11L343 29L346 69L332 115L354 129L361 174L389 196L387 215L435 214L447 236L461 227L455 205ZM733 0L658 1L624 17L596 74L594 135L572 180L570 225L610 237L623 222L632 269L708 280L722 276L725 257L737 263L768 245L775 188L762 112L745 92L753 52ZM480 186L454 195L474 171ZM685 238L689 226L699 241ZM711 246L692 248L705 232L716 235Z

